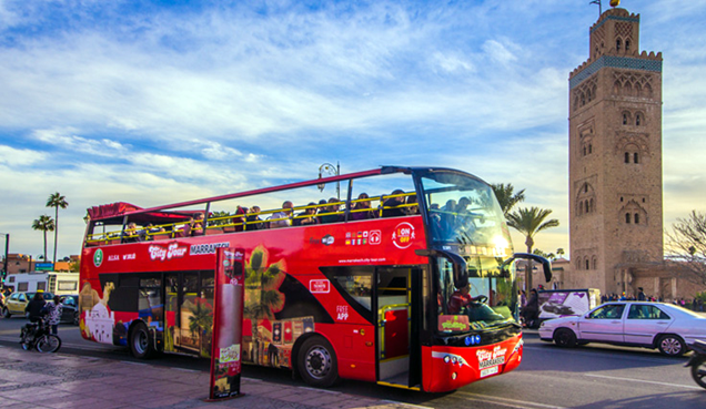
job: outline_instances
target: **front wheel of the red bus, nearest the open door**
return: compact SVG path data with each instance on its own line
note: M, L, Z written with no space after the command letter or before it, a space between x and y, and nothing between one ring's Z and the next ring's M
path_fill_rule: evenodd
M327 388L339 379L335 352L322 337L311 337L302 344L297 357L299 374L311 386Z

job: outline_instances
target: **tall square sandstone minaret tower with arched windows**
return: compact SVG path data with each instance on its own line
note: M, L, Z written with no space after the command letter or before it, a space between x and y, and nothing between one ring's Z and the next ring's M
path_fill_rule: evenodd
M634 294L637 267L664 255L662 53L639 52L639 14L601 14L568 102L572 270L602 293Z

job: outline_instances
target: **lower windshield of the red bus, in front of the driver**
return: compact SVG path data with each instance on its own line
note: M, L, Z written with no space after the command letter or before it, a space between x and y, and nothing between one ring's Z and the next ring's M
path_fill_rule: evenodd
M456 288L453 266L444 257L437 258L438 331L478 330L517 321L517 290L514 286L514 265L502 265L502 258L466 257L468 283Z

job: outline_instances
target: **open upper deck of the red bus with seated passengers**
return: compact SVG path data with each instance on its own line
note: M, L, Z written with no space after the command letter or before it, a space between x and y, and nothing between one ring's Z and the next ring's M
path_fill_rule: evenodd
M385 166L151 208L125 203L97 206L89 209L85 246L296 226L312 218L332 223L420 214L417 187L411 177L415 172ZM334 184L336 191L343 184L342 194L326 200L316 193L333 191ZM288 202L291 208L284 208Z

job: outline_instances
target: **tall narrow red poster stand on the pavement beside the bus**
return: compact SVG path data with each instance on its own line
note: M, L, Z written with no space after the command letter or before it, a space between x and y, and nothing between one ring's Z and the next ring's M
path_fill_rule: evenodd
M242 396L244 250L219 248L213 294L213 337L209 400Z

